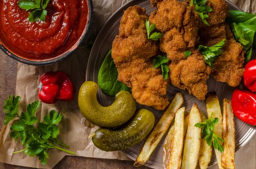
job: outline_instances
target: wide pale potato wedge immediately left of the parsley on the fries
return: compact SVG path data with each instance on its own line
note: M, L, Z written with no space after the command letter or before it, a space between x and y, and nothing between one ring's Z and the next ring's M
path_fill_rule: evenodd
M202 130L195 127L196 123L201 123L201 113L198 106L194 103L189 114L181 169L195 169L198 163Z

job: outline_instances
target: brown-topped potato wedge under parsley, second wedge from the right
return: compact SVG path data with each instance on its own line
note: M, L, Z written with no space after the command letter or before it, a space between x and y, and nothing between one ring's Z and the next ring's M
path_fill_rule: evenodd
M222 114L221 114L221 106L218 100L218 97L216 94L211 94L207 97L206 99L206 108L207 108L207 114L208 117L212 115L212 118L217 117L218 118L218 123L215 124L213 132L221 137L222 135ZM222 138L222 137L221 137ZM213 140L212 140L213 141ZM221 142L222 145L222 142ZM221 152L218 151L218 149L214 149L218 167L219 169L223 169L221 166Z

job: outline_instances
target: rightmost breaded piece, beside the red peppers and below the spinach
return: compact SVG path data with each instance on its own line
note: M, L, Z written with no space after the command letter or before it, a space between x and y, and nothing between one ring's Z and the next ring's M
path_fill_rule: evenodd
M244 48L236 42L227 22L202 29L200 44L212 46L224 38L226 43L221 49L222 54L215 60L212 75L216 81L225 82L230 86L238 86L244 74Z

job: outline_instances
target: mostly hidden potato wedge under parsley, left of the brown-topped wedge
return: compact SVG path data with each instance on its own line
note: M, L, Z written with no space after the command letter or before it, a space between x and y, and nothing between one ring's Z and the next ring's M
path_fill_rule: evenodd
M206 117L202 111L200 112L201 112L202 122L205 122ZM199 159L198 159L200 169L207 169L208 164L211 161L211 157L212 157L212 145L209 146L205 138L201 138L201 147L200 147Z

